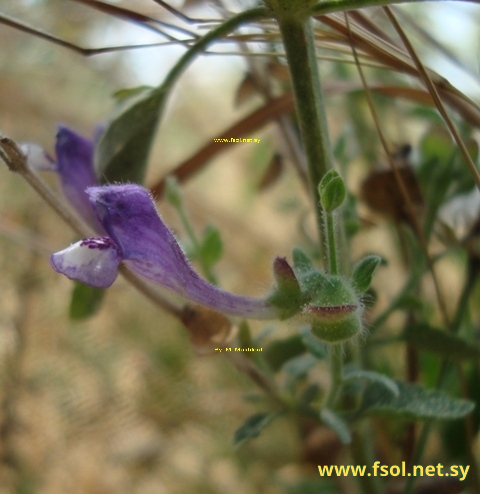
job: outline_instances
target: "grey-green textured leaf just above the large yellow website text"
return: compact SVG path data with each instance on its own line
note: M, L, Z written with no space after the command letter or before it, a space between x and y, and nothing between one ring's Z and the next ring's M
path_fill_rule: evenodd
M398 382L394 396L383 384L371 383L364 392L360 411L398 419L458 419L470 413L475 404L452 398L442 391L428 390L416 384Z

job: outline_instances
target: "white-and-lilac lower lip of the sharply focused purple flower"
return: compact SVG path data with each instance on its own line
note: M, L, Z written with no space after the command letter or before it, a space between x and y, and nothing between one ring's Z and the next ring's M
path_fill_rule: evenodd
M108 237L81 240L50 258L55 271L98 288L115 281L121 260L118 247Z

